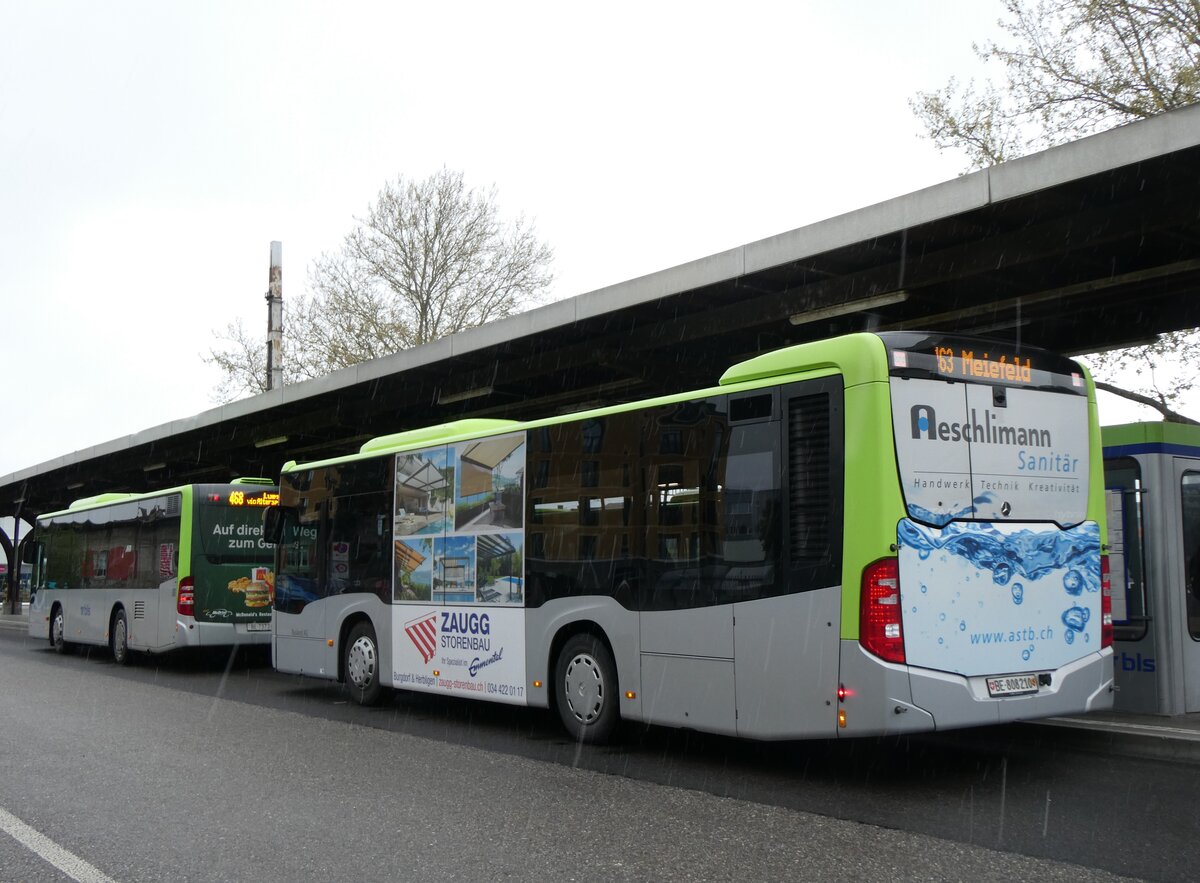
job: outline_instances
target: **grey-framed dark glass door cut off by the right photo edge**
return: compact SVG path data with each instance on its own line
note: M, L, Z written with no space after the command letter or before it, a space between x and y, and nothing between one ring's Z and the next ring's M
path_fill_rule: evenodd
M1200 711L1200 461L1175 457L1175 487L1178 497L1176 551L1165 563L1170 584L1176 588L1171 611L1176 639L1182 648L1184 713ZM1174 519L1172 519L1174 521Z

